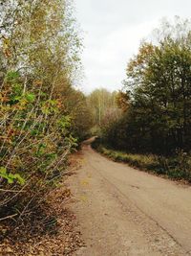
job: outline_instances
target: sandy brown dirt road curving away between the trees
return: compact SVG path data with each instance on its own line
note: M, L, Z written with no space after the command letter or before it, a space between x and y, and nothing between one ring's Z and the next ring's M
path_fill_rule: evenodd
M74 255L191 255L191 188L85 145L69 183L86 246Z

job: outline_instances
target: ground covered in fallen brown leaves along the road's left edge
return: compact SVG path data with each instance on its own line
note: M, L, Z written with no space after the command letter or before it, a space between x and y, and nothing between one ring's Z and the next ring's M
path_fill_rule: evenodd
M71 191L66 185L68 176L73 175L76 168L77 162L72 157L69 172L48 195L47 204L43 207L45 212L39 213L38 221L35 221L36 213L33 223L18 226L0 241L0 256L71 256L83 245L76 217L70 210ZM0 225L0 233L5 228L6 225Z

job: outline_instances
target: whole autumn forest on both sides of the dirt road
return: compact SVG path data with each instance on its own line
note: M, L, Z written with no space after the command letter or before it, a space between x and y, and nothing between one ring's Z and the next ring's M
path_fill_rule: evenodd
M0 1L0 13L0 240L44 218L69 156L91 136L116 161L191 182L189 20L140 44L120 91L85 95L72 1Z

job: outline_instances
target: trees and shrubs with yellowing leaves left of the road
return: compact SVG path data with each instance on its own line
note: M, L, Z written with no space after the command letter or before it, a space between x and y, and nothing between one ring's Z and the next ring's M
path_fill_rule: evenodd
M92 124L71 1L0 1L0 47L0 221L27 225Z

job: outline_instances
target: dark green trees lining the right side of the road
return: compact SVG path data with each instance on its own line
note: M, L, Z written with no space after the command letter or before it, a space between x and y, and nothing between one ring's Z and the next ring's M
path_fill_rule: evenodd
M123 115L104 131L117 150L191 150L191 23L177 17L173 25L162 23L157 35L129 61L117 101Z

